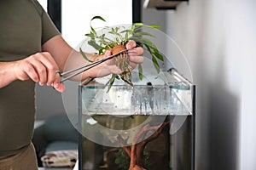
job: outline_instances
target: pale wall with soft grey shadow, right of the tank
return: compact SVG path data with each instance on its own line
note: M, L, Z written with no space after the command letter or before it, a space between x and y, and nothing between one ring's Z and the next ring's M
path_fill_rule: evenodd
M163 20L189 60L197 170L256 169L255 8L253 0L189 0L175 11L144 11L146 21Z

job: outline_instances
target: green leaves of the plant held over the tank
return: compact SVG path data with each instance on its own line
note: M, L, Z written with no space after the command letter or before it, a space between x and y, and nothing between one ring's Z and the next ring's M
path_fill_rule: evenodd
M109 27L104 26L103 29L108 32L108 34L111 34L111 37L107 37L105 34L97 35L96 28L93 27L92 20L106 20L102 18L102 16L94 16L90 20L90 33L85 34L86 37L89 37L88 44L95 48L97 50L98 54L104 54L107 49L113 48L117 44L125 44L129 40L134 40L140 44L141 47L148 50L148 52L151 55L152 62L154 64L154 67L156 71L160 72L160 65L158 61L163 61L164 57L162 54L160 54L158 48L154 45L154 42L151 41L151 38L147 37L154 37L154 35L150 34L150 32L143 31L143 26L147 28L160 28L159 25L149 25L146 26L143 23L135 23L130 28L124 27ZM108 30L107 30L108 29ZM84 59L87 59L85 54L82 52L82 49L80 48L80 53L83 54ZM142 80L143 79L143 65L138 65L138 76ZM110 80L108 81L108 91L113 86L113 82L115 79L124 79L122 76L113 74ZM130 79L129 79L130 80Z

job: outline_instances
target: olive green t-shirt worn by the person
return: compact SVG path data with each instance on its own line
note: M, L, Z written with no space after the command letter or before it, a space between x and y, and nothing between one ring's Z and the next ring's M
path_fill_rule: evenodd
M58 34L36 0L0 0L0 62L40 52L42 44ZM31 143L34 88L31 80L0 88L0 156L18 153Z

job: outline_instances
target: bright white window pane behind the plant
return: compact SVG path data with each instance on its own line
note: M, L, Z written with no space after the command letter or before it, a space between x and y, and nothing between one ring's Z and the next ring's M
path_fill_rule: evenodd
M90 31L90 19L95 15L101 15L107 22L94 22L94 26L132 23L132 0L63 0L61 3L62 36L73 48Z

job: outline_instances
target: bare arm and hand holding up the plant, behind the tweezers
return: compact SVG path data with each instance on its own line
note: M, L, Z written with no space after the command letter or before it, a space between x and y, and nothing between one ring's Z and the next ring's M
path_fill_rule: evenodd
M136 42L134 41L126 44L126 48L131 49L131 53L129 53L129 55L132 68L134 68L138 63L143 62L143 57L141 56L143 54L143 48L135 47ZM57 65L59 65L60 71L64 71L64 69L65 71L69 71L81 65L88 64L88 61L86 61L78 51L71 48L60 35L51 38L48 42L45 42L43 50L49 52L53 56ZM102 59L109 55L111 55L110 51L107 51L105 55L98 56L97 58L93 58L91 54L86 54L87 58L90 60ZM82 77L79 77L79 81L83 81L88 77L104 77L111 73L121 73L114 64L113 59L110 59L101 65L97 65L89 71L85 71Z

